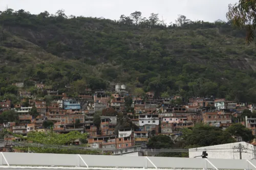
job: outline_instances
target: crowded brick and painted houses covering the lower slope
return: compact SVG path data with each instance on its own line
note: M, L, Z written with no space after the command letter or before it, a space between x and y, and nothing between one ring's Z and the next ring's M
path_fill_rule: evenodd
M182 101L179 95L159 98L154 92L147 92L146 97L135 96L124 85L116 86L113 91L88 88L72 97L45 89L41 83L35 87L53 96L53 100L49 102L32 96L30 91L20 90L20 103L0 102L1 112L14 110L18 115L17 122L6 122L3 128L26 136L31 131L49 131L51 127L44 126L44 122L51 122L54 132L87 133L89 147L110 152L145 144L159 134L175 142L183 128L194 127L197 123L227 128L234 123L233 117L241 115L244 109L254 111L254 105L225 99L191 98L188 103L176 104L176 100ZM254 119L248 117L246 121L247 128L255 130ZM9 139L10 135L6 143L10 143Z

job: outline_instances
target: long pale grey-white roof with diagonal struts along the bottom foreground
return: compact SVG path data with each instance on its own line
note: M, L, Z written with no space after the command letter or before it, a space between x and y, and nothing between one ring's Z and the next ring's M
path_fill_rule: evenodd
M0 170L14 169L256 169L256 160L0 153Z

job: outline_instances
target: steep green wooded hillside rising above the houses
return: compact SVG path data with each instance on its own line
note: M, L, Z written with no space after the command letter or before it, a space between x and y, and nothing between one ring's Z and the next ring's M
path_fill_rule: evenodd
M1 12L2 95L12 92L13 82L29 86L32 79L64 92L65 85L82 80L93 89L119 82L157 94L256 103L256 53L243 30L222 21L183 18L165 26L156 14L140 16L138 24L136 18Z

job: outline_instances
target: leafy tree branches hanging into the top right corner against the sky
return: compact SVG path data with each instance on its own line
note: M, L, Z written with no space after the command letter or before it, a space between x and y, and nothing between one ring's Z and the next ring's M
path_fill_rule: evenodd
M254 40L254 31L256 28L256 1L239 0L235 5L229 4L227 18L232 21L234 26L246 29L246 41Z

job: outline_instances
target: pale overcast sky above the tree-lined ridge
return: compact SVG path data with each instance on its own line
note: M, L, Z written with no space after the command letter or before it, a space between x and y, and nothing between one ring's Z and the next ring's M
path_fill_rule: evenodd
M179 14L191 20L226 20L228 4L239 0L0 0L0 11L8 8L24 9L32 14L48 11L53 14L64 9L67 16L92 16L119 19L120 15L130 15L141 11L143 17L159 13L166 23L175 22Z

